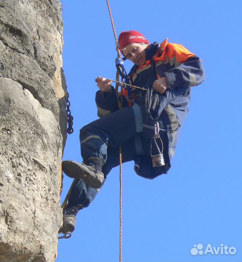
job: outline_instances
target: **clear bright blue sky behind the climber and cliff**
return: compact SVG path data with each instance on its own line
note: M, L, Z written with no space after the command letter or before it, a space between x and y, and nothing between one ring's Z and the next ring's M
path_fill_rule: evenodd
M81 162L79 130L97 119L97 76L115 79L113 30L106 1L62 0L64 70L74 115L63 159ZM145 180L123 165L123 262L241 262L242 2L110 0L116 32L150 42L169 38L203 60L172 168ZM131 64L126 63L127 70ZM64 178L62 201L72 180ZM234 255L191 255L194 245L235 247ZM119 260L119 168L89 208L78 213L56 262Z

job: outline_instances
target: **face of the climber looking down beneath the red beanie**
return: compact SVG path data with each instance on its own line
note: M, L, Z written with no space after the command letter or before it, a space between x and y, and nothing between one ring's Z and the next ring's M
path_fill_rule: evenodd
M148 44L132 43L129 44L123 53L130 61L137 66L143 66L146 62L145 48Z

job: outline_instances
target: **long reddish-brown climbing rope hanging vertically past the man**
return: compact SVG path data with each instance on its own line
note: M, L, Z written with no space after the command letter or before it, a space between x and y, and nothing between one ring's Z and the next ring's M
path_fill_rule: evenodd
M117 50L117 55L119 58L121 58L121 54L120 54L120 50L119 47L117 45L118 43L118 39L117 39L117 35L116 35L116 31L115 31L115 27L114 27L114 23L113 23L113 16L112 16L112 12L111 12L111 8L110 8L110 4L109 4L109 0L107 0L107 5L108 5L108 10L109 10L109 15L110 15L110 19L111 19L111 23L112 23L112 27L113 27L113 34L114 34L114 38L115 38L115 44L116 44L116 50ZM118 70L116 72L116 93L118 93L118 86L119 86L119 73ZM122 89L121 89L121 93L122 93ZM122 103L122 101L121 101ZM119 107L121 108L121 106L119 105ZM119 147L119 165L120 165L120 176L119 176L119 180L120 180L120 198L119 198L119 206L120 206L120 216L119 216L119 221L120 221L120 226L119 226L119 262L122 262L122 246L123 246L123 216L122 216L122 197L123 197L123 182L122 182L122 147Z

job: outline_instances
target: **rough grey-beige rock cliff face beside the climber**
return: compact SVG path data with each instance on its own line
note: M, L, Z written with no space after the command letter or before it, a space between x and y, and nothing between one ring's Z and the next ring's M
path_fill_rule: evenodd
M0 262L52 262L66 138L59 0L0 0Z

